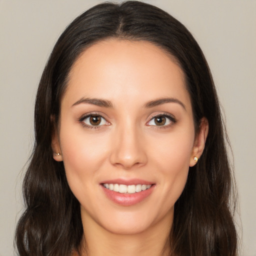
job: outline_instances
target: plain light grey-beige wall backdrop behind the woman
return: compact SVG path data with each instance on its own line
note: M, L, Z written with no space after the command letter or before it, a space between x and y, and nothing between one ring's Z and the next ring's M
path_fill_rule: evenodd
M14 255L33 104L66 25L99 0L0 0L0 256ZM201 46L226 116L239 193L240 255L256 255L256 0L145 0L179 19ZM242 228L241 228L242 225Z

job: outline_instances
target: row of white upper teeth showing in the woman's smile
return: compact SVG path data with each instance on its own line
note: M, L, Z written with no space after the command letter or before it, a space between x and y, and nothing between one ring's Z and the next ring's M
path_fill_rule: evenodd
M151 187L151 185L137 184L137 185L123 185L123 184L107 184L103 183L103 186L109 190L113 190L119 193L130 193L140 192Z

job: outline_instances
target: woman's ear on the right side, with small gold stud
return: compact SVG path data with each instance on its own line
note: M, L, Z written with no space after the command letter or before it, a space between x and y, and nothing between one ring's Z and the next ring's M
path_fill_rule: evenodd
M199 159L199 157L201 156L208 135L208 130L208 120L205 117L203 117L200 120L199 130L194 139L194 145L190 155L189 166L194 166L197 162L197 159Z

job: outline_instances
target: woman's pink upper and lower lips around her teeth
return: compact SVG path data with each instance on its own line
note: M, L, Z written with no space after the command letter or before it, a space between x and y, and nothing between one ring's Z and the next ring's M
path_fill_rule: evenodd
M107 184L124 184L124 185L137 185L137 184L145 184L145 185L151 185L150 188L140 191L140 192L136 192L136 193L119 193L119 192L115 192L113 190L109 190L105 187L103 187L103 183L107 183ZM141 202L142 200L144 200L147 196L149 196L154 187L155 184L153 182L149 182L146 180L141 180L141 179L129 179L129 180L125 180L125 179L112 179L112 180L104 180L103 182L101 182L101 187L103 189L103 192L105 193L105 195L113 202L122 205L122 206L130 206L130 205L134 205L138 202Z

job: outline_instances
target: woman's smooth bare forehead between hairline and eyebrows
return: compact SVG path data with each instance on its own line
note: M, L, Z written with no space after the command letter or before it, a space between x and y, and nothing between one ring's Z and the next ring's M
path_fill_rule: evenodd
M173 56L147 41L121 39L86 48L71 68L65 94L109 100L139 96L141 101L172 96L189 101L184 73Z

